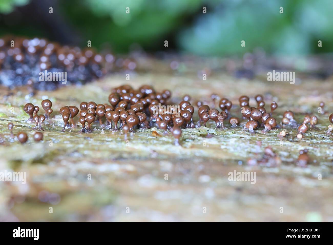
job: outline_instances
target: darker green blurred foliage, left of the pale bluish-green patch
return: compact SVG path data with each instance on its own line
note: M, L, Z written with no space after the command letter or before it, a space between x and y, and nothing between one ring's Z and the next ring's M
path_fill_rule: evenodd
M83 0L64 1L72 23L96 46L111 42L116 51L128 52L138 43L148 50L164 49L167 35L180 30L201 0ZM83 4L79 4L82 2ZM130 13L126 13L129 7ZM110 21L111 20L111 21ZM169 40L169 39L168 39Z

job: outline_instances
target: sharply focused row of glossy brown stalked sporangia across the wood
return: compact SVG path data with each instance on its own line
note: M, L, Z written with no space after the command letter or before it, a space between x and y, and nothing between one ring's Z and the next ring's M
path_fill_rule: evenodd
M125 132L125 138L129 131L133 132L135 128L150 128L159 127L160 129L170 130L176 139L176 144L181 136L181 128L195 128L199 127L201 123L206 126L208 120L212 120L216 123L216 128L226 129L224 121L229 119L231 127L236 127L240 123L240 119L231 117L230 109L232 103L222 98L219 101L219 108L210 109L207 105L200 105L198 103L198 116L199 121L197 125L194 124L192 116L194 113L194 107L190 104L189 96L185 96L183 101L179 103L180 113L176 111L176 107L170 107L171 111L163 111L160 105L166 105L167 100L171 97L169 90L162 92L156 92L151 86L144 85L139 90L134 90L129 85L122 85L114 88L109 95L109 104L97 104L95 102L82 102L79 109L75 106L65 106L60 109L64 126L62 131L65 131L66 127L76 127L76 123L73 121L74 117L79 114L79 122L82 125L81 133L89 133L93 130L92 123L99 122L102 128L108 126L109 129L117 131L119 128ZM257 102L257 108L249 107L249 97L241 96L239 98L239 105L241 108L241 114L243 119L247 119L244 129L254 133L254 129L263 128L262 133L270 131L272 128L279 128L276 119L272 117L274 110L278 107L276 102L272 102L270 105L270 113L266 112L264 108L265 102L262 95L256 95L255 100ZM323 106L323 103L321 103ZM42 129L42 123L48 119L50 120L50 114L53 112L52 102L50 100L43 100L42 107L45 111L44 115L38 115L39 107L28 103L24 106L24 111L30 116L29 122L35 122L35 129ZM158 108L158 112L156 109ZM103 118L106 118L106 124L103 123ZM330 122L333 123L333 114L329 116ZM119 126L118 126L119 122ZM302 138L302 135L308 130L308 125L313 127L317 124L318 119L316 116L306 115L304 122L300 125L294 119L294 114L291 111L286 111L283 114L282 126L298 127L297 138ZM333 125L329 126L327 134L331 134ZM281 131L278 137L284 137L285 131Z

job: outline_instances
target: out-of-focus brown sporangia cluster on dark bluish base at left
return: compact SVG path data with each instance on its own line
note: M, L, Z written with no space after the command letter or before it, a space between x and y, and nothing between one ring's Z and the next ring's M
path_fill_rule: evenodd
M116 61L111 53L98 54L92 48L60 46L45 39L0 38L0 84L8 87L28 85L38 90L54 90L62 83L40 81L39 73L66 72L66 85L85 84L102 77L115 66L133 69L129 59Z

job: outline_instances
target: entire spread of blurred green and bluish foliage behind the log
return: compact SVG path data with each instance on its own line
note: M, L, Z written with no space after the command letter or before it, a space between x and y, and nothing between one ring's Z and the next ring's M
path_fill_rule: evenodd
M0 0L0 11L27 1ZM332 52L333 47L332 0L59 0L59 6L82 35L82 46L88 40L98 48L110 43L118 53L133 43L148 51L174 47L213 56L257 47L285 55Z

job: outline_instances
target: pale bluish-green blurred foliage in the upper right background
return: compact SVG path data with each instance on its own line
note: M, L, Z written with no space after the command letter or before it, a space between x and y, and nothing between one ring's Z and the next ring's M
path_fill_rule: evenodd
M179 34L182 49L203 55L242 54L256 47L275 54L332 52L332 0L223 3L220 7L211 5L207 15ZM241 40L245 47L241 47ZM318 40L322 47L318 47Z

